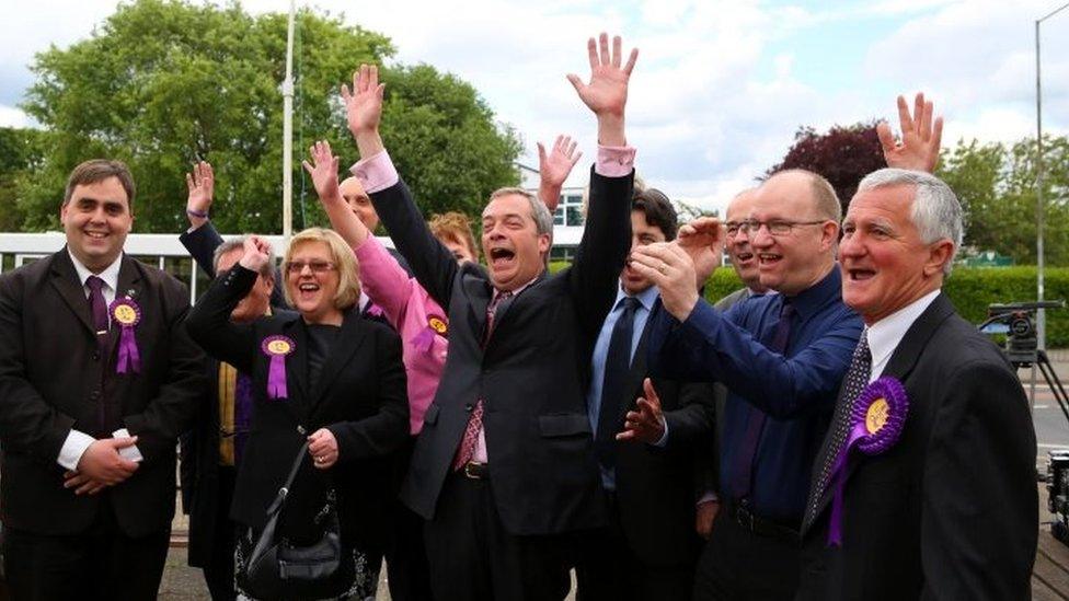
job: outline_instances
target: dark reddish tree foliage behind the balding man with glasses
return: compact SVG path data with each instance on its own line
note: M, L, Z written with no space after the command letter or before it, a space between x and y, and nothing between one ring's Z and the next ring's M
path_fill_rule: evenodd
M789 169L818 173L831 183L846 215L861 178L885 166L876 124L859 123L847 127L837 125L825 134L817 134L812 127L800 127L783 162L772 166L766 175Z

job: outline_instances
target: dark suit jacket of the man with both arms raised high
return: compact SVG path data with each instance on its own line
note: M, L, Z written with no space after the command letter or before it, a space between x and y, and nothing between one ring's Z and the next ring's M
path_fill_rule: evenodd
M485 269L457 265L430 235L403 182L371 195L419 284L449 313L449 357L401 493L416 513L434 518L468 416L481 398L492 490L505 530L550 534L604 523L586 390L594 340L630 244L631 187L631 176L591 174L589 219L575 263L503 301L485 349L493 292Z

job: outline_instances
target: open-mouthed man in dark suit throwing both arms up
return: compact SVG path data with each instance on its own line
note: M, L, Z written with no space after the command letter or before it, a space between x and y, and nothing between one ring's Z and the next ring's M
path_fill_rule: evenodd
M620 38L588 45L593 77L570 80L598 116L602 145L575 264L545 273L552 218L519 188L482 216L488 270L427 230L378 134L382 86L361 66L345 97L363 160L353 171L419 284L448 311L449 358L427 409L402 499L428 520L430 582L441 599L561 599L570 534L605 522L586 415L587 366L628 253L632 162L623 113L636 59Z

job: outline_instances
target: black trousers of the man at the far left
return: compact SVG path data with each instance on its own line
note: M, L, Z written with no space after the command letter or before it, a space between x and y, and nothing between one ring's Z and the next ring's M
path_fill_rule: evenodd
M100 507L93 525L79 534L49 536L4 528L4 567L13 599L156 599L170 527L134 539L115 522L106 499Z

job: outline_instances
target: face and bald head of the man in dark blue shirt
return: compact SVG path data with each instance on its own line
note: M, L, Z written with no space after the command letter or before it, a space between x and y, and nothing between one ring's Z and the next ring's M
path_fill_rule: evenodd
M754 197L750 217L758 221L817 221L813 181L804 173L781 173L769 178ZM839 226L832 219L796 226L790 232L772 235L767 227L750 231L757 254L761 286L783 294L797 294L820 281L831 270Z

